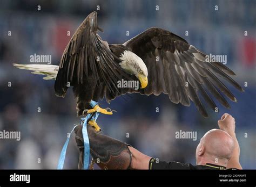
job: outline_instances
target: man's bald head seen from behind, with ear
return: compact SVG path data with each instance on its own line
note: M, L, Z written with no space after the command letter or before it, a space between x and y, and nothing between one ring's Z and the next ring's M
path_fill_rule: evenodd
M215 163L226 166L234 149L234 142L225 131L213 129L201 138L197 150L197 164Z

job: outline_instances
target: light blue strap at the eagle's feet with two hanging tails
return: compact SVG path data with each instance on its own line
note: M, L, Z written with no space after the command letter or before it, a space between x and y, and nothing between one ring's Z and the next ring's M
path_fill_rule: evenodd
M97 104L98 103L95 102L94 100L91 100L91 102L90 102L91 107L95 107L95 105L97 105ZM83 139L84 139L84 168L83 169L88 169L88 167L89 167L90 142L89 142L89 136L87 133L87 120L90 119L91 116L92 116L92 114L90 113L90 114L87 114L87 116L85 118L81 118L82 121L84 120L83 129L82 129ZM96 112L95 115L92 116L91 120L96 121L98 116L99 116L99 112ZM81 123L82 123L82 121L81 121ZM72 131L70 132L70 135L73 132L73 130L75 130L76 126L73 127ZM66 149L68 148L69 139L70 139L70 136L68 137L68 139L66 139L66 142L62 148L62 152L60 153L57 169L63 169L65 156L66 156Z

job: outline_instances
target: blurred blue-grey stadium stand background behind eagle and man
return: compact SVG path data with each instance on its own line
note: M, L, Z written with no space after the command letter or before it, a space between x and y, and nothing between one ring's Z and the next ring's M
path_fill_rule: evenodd
M21 141L0 140L1 169L56 169L66 134L80 121L72 91L58 98L54 81L44 81L42 76L17 69L12 63L30 63L30 55L36 53L52 55L52 64L59 64L73 32L97 5L98 24L105 31L100 35L110 44L123 43L148 27L166 28L205 53L227 55L227 66L237 73L235 80L241 85L248 83L244 93L229 87L238 103L231 103L231 110L218 103L220 112L208 109L208 119L200 116L193 104L173 104L166 95L131 95L126 100L117 98L110 106L100 101L103 107L117 110L113 116L99 116L103 133L160 160L196 164L195 150L201 136L217 128L217 120L228 112L236 120L241 165L256 169L256 1L0 2L0 131L21 131ZM188 36L185 31L189 31ZM179 130L196 131L197 141L175 139ZM64 168L76 169L77 164L78 151L72 137Z

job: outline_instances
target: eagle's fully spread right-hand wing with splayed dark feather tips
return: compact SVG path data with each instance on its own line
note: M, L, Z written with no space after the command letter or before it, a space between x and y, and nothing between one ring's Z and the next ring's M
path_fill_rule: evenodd
M149 83L145 89L140 90L142 94L159 95L163 92L169 95L173 103L185 106L190 106L192 100L200 113L208 117L199 93L213 110L216 105L208 92L227 108L230 108L230 105L220 91L233 102L237 102L219 77L244 91L228 76L235 75L232 70L220 62L206 62L204 53L170 31L149 28L126 41L124 45L143 59L149 71Z

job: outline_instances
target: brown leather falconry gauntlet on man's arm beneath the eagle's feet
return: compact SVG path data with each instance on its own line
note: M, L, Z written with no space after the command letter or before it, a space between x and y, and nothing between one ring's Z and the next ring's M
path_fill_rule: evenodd
M76 142L79 148L78 169L83 168L84 140L82 127L82 125L78 125L75 128ZM132 154L126 143L98 134L90 125L87 125L87 133L91 156L101 169L130 169Z

